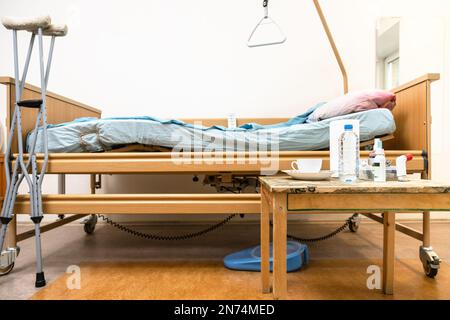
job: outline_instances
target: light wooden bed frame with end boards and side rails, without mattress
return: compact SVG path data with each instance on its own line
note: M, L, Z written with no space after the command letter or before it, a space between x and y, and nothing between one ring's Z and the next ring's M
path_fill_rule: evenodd
M407 83L393 92L397 96L397 107L394 116L397 123L395 137L386 141L386 156L394 161L399 155L412 153L413 161L408 164L410 173L421 173L428 178L431 174L431 105L430 85L438 80L438 74L427 74ZM7 124L10 123L14 110L15 84L9 77L0 77L0 83L6 86L7 92ZM39 98L37 87L26 85L23 99ZM23 109L23 129L29 132L34 129L35 110ZM54 93L47 95L48 123L59 124L79 117L101 117L101 111L85 104L67 99ZM239 119L238 125L247 122L273 124L286 121L285 118ZM186 122L201 121L203 125L227 125L226 119L185 119ZM9 132L9 127L7 127ZM17 152L17 150L15 150ZM96 195L95 175L102 174L208 174L232 178L233 176L258 176L264 168L265 157L258 154L237 152L222 153L219 157L231 157L232 163L211 164L218 155L184 153L183 159L174 160L169 152L132 152L132 153L67 153L50 154L49 174L90 174L91 194L86 195L44 195L43 206L46 214L70 215L62 220L43 227L43 232L75 221L89 214L260 214L260 195L258 194L185 194L185 195ZM368 153L363 152L362 157ZM187 158L195 159L184 163ZM42 160L42 156L38 157ZM277 155L280 170L290 169L293 160L299 158L323 158L325 168L329 167L329 152L280 152ZM41 163L41 160L39 163ZM4 158L0 157L1 194L5 190ZM3 198L1 198L3 200ZM17 198L16 214L29 213L29 199L26 195ZM379 221L378 216L367 214ZM423 232L398 225L397 230L430 246L430 215L424 213ZM33 231L17 234L16 221L9 225L7 246L15 247L17 242L34 235Z

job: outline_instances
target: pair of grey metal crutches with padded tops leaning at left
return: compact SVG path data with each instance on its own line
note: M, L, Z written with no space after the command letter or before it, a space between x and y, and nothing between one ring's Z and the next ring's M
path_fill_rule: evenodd
M4 197L2 214L0 221L2 223L0 229L0 248L3 248L7 226L11 222L14 214L14 204L17 197L17 192L23 179L27 181L30 192L30 217L34 223L35 229L35 245L36 245L36 287L45 286L45 276L42 266L42 250L40 239L40 223L43 218L42 210L42 182L45 176L45 172L48 164L48 145L47 145L47 113L46 113L46 92L47 84L50 74L50 67L53 58L53 49L55 44L55 38L57 36L65 36L67 34L66 26L54 26L51 25L51 19L48 16L35 18L35 19L2 19L3 25L13 31L13 47L14 47L14 74L15 74L15 87L16 87L16 104L14 109L14 115L11 119L10 135L8 137L8 146L5 157L5 172L6 172L6 193ZM18 44L17 33L18 31L25 30L31 32L31 39L28 48L27 57L25 60L24 70L21 80L19 80L19 57L18 57ZM25 86L28 67L30 64L31 54L33 51L33 45L36 36L39 43L39 62L40 62L40 75L41 75L41 99L38 100L21 100L23 89ZM48 54L47 66L44 65L44 48L43 48L43 36L50 36L50 50ZM28 151L28 159L25 163L23 155L23 138L22 138L22 119L21 108L34 108L39 109L36 118L36 127L31 137L31 146ZM38 172L37 157L35 154L35 146L39 132L39 126L42 125L42 131L44 139L44 162L41 167L41 171ZM12 144L14 131L17 131L17 147L18 155L13 162L14 157L12 154ZM31 174L30 174L31 167ZM6 249L2 252L2 258L5 257L5 261L2 263L14 263L17 257L18 250ZM3 265L2 265L3 267Z

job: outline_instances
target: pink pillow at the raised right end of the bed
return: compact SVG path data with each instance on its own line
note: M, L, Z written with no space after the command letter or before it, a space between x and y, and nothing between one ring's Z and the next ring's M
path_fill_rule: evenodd
M395 103L396 97L389 91L370 90L349 93L317 108L308 117L307 122L318 122L378 108L392 111L395 108Z

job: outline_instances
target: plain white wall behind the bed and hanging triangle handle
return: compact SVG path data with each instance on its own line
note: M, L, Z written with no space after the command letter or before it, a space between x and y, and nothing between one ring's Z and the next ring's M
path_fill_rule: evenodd
M351 90L375 87L379 17L415 21L442 17L442 34L426 36L432 43L445 41L445 54L449 52L447 0L321 3L347 65ZM0 15L50 13L55 22L67 22L69 35L57 42L49 90L99 107L105 116L294 116L341 94L340 73L312 1L272 0L271 13L288 41L283 46L248 49L246 40L261 17L261 4L262 0L0 0ZM20 40L25 49L26 39ZM12 75L11 35L3 28L0 49L0 74ZM442 92L450 92L446 57L434 65L417 55L415 59L425 63L405 74L405 80L445 70ZM34 64L29 82L39 83L37 71ZM449 111L443 107L448 94L440 99L433 112L448 119ZM435 136L448 134L443 125L439 130L433 132ZM439 160L447 155L450 142L438 143L434 171L450 180L450 170ZM190 178L184 179L188 184ZM105 189L125 191L110 177L105 180ZM167 190L165 181L149 178L139 184L140 190L155 191L154 186L161 184ZM85 192L88 180L70 178L68 189Z

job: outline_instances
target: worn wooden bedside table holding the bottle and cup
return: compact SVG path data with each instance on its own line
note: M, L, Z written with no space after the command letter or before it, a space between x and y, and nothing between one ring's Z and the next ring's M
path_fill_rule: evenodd
M308 182L287 176L261 177L261 275L270 292L270 213L273 213L273 295L286 297L287 216L314 212L382 213L383 292L394 292L396 213L450 211L450 185L418 180L410 182Z

